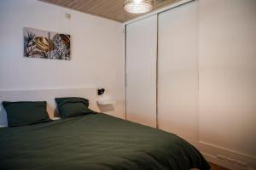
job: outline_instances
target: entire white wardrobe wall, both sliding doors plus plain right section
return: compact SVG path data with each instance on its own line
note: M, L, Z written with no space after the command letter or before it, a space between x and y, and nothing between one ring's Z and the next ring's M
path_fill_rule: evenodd
M255 16L255 0L194 0L127 23L126 119L256 162Z

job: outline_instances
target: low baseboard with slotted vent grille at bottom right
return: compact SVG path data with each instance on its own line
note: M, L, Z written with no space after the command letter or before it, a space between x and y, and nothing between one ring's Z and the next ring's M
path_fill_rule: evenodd
M186 139L190 144L193 144L198 150L200 150L207 161L211 161L212 163L215 163L221 167L226 167L230 170L256 170L256 158L254 156L249 156L247 154L237 152L236 150L225 149L223 147L219 147L214 144L208 144L203 141L187 138L183 139ZM221 156L240 161L247 166L241 166L230 161L219 159Z

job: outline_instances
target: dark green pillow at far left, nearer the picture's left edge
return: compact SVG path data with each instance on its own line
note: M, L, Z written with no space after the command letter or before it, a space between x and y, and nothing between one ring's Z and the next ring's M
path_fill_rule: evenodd
M46 101L3 101L2 104L9 127L51 121L46 111Z

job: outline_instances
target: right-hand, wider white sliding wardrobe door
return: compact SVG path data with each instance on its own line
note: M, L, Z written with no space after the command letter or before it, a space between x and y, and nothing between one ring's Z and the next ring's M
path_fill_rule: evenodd
M159 127L198 139L198 1L159 15Z

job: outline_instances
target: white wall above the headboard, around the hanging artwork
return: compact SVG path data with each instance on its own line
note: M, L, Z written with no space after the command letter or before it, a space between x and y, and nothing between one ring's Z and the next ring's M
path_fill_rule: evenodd
M106 88L118 101L110 114L123 117L122 24L37 0L1 0L0 23L0 90ZM23 27L70 34L72 59L23 57Z

